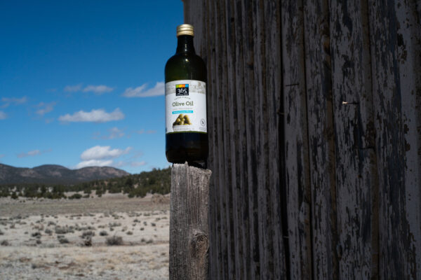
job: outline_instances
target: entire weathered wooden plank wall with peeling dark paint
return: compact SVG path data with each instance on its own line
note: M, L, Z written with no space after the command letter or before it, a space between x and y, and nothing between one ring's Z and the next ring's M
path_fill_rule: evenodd
M185 0L210 279L421 279L421 3Z

